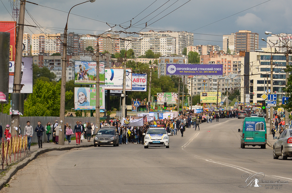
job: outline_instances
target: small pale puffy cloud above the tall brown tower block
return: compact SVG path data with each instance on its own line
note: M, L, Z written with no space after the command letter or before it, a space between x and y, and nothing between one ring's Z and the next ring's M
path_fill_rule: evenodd
M236 23L240 27L250 28L262 25L263 21L253 13L246 13L244 16L237 17Z

